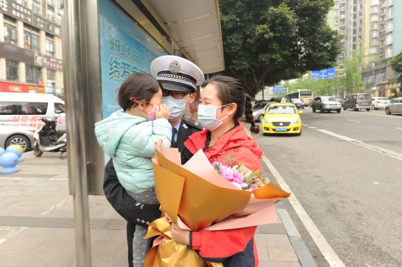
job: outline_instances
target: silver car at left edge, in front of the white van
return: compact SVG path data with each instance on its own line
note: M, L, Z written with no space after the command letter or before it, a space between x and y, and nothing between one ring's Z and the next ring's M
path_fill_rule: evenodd
M35 127L0 125L0 148L19 145L24 152L33 149Z

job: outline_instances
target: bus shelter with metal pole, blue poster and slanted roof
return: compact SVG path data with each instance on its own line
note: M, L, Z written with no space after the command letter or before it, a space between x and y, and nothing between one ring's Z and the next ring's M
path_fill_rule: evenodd
M118 88L177 55L204 74L224 70L218 0L65 0L67 150L78 266L91 266L88 195L103 195L105 162L95 122L119 108Z

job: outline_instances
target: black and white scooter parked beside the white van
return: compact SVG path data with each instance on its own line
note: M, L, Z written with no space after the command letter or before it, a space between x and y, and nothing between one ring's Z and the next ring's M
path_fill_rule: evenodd
M43 152L61 152L67 151L67 136L65 130L56 131L56 119L52 117L43 117L41 120L45 123L34 133L34 154L36 157L42 156Z

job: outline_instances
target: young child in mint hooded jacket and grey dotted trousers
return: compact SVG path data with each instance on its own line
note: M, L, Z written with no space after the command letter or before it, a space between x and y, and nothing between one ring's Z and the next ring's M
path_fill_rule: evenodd
M172 126L170 111L162 104L162 90L156 79L145 73L134 73L119 89L123 108L95 123L97 142L113 158L117 177L134 200L158 204L151 158L154 143L162 140L170 147ZM147 228L136 226L133 239L133 264L143 266L148 249L144 239Z

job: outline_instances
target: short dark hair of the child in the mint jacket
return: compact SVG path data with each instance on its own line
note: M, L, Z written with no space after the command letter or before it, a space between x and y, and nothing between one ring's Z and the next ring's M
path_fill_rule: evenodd
M159 82L152 76L143 72L136 72L127 77L120 86L119 105L126 111L126 109L138 105L138 103L130 100L131 97L138 101L150 101L152 96L159 91L159 87Z

